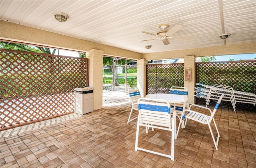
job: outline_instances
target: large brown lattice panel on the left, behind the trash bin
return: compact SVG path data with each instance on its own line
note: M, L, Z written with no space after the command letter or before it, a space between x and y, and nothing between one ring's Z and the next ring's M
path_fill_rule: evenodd
M74 88L87 86L88 59L18 52L0 52L0 128L74 112Z

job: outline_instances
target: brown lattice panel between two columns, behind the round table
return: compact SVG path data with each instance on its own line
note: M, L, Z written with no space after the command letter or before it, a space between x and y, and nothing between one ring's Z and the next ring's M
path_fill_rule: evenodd
M146 71L146 94L169 93L172 86L184 86L184 64L148 64Z

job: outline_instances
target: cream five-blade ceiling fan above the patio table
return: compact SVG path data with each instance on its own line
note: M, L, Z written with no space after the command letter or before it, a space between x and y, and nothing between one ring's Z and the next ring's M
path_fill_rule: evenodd
M172 39L182 39L182 40L189 40L192 39L192 36L172 36L172 34L174 34L175 32L177 32L178 30L182 29L182 26L176 24L173 28L171 28L170 30L165 30L166 28L168 28L170 25L169 24L160 24L158 27L160 29L162 29L160 32L158 32L157 34L153 34L150 32L145 32L142 31L142 33L146 33L146 34L150 34L153 36L157 36L157 38L154 39L148 39L148 40L158 40L161 39L164 43L164 45L170 44L168 38L172 38ZM141 42L144 41L148 41L148 40L142 40Z

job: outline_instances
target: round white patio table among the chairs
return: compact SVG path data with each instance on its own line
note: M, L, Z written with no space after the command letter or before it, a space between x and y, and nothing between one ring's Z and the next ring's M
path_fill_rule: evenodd
M176 106L175 106L176 103L183 103L184 104L183 109L185 109L185 102L188 102L187 96L179 95L179 94L154 93L154 94L147 94L146 98L167 100L169 103L174 104L174 110L176 109ZM175 116L175 118L176 118L176 116ZM176 122L176 120L175 120L175 122ZM174 125L175 125L175 130L177 130L176 123ZM176 138L177 138L177 132L175 132L175 139Z

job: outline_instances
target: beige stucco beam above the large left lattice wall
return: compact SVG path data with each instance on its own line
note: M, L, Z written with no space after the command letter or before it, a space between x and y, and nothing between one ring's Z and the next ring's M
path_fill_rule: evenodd
M98 44L78 38L72 38L57 33L47 32L44 30L22 26L0 20L0 39L12 40L34 45L48 46L51 48L61 48L74 50L78 52L88 52L91 49L102 50L105 55L118 56L139 60L142 54L132 52L121 48Z

